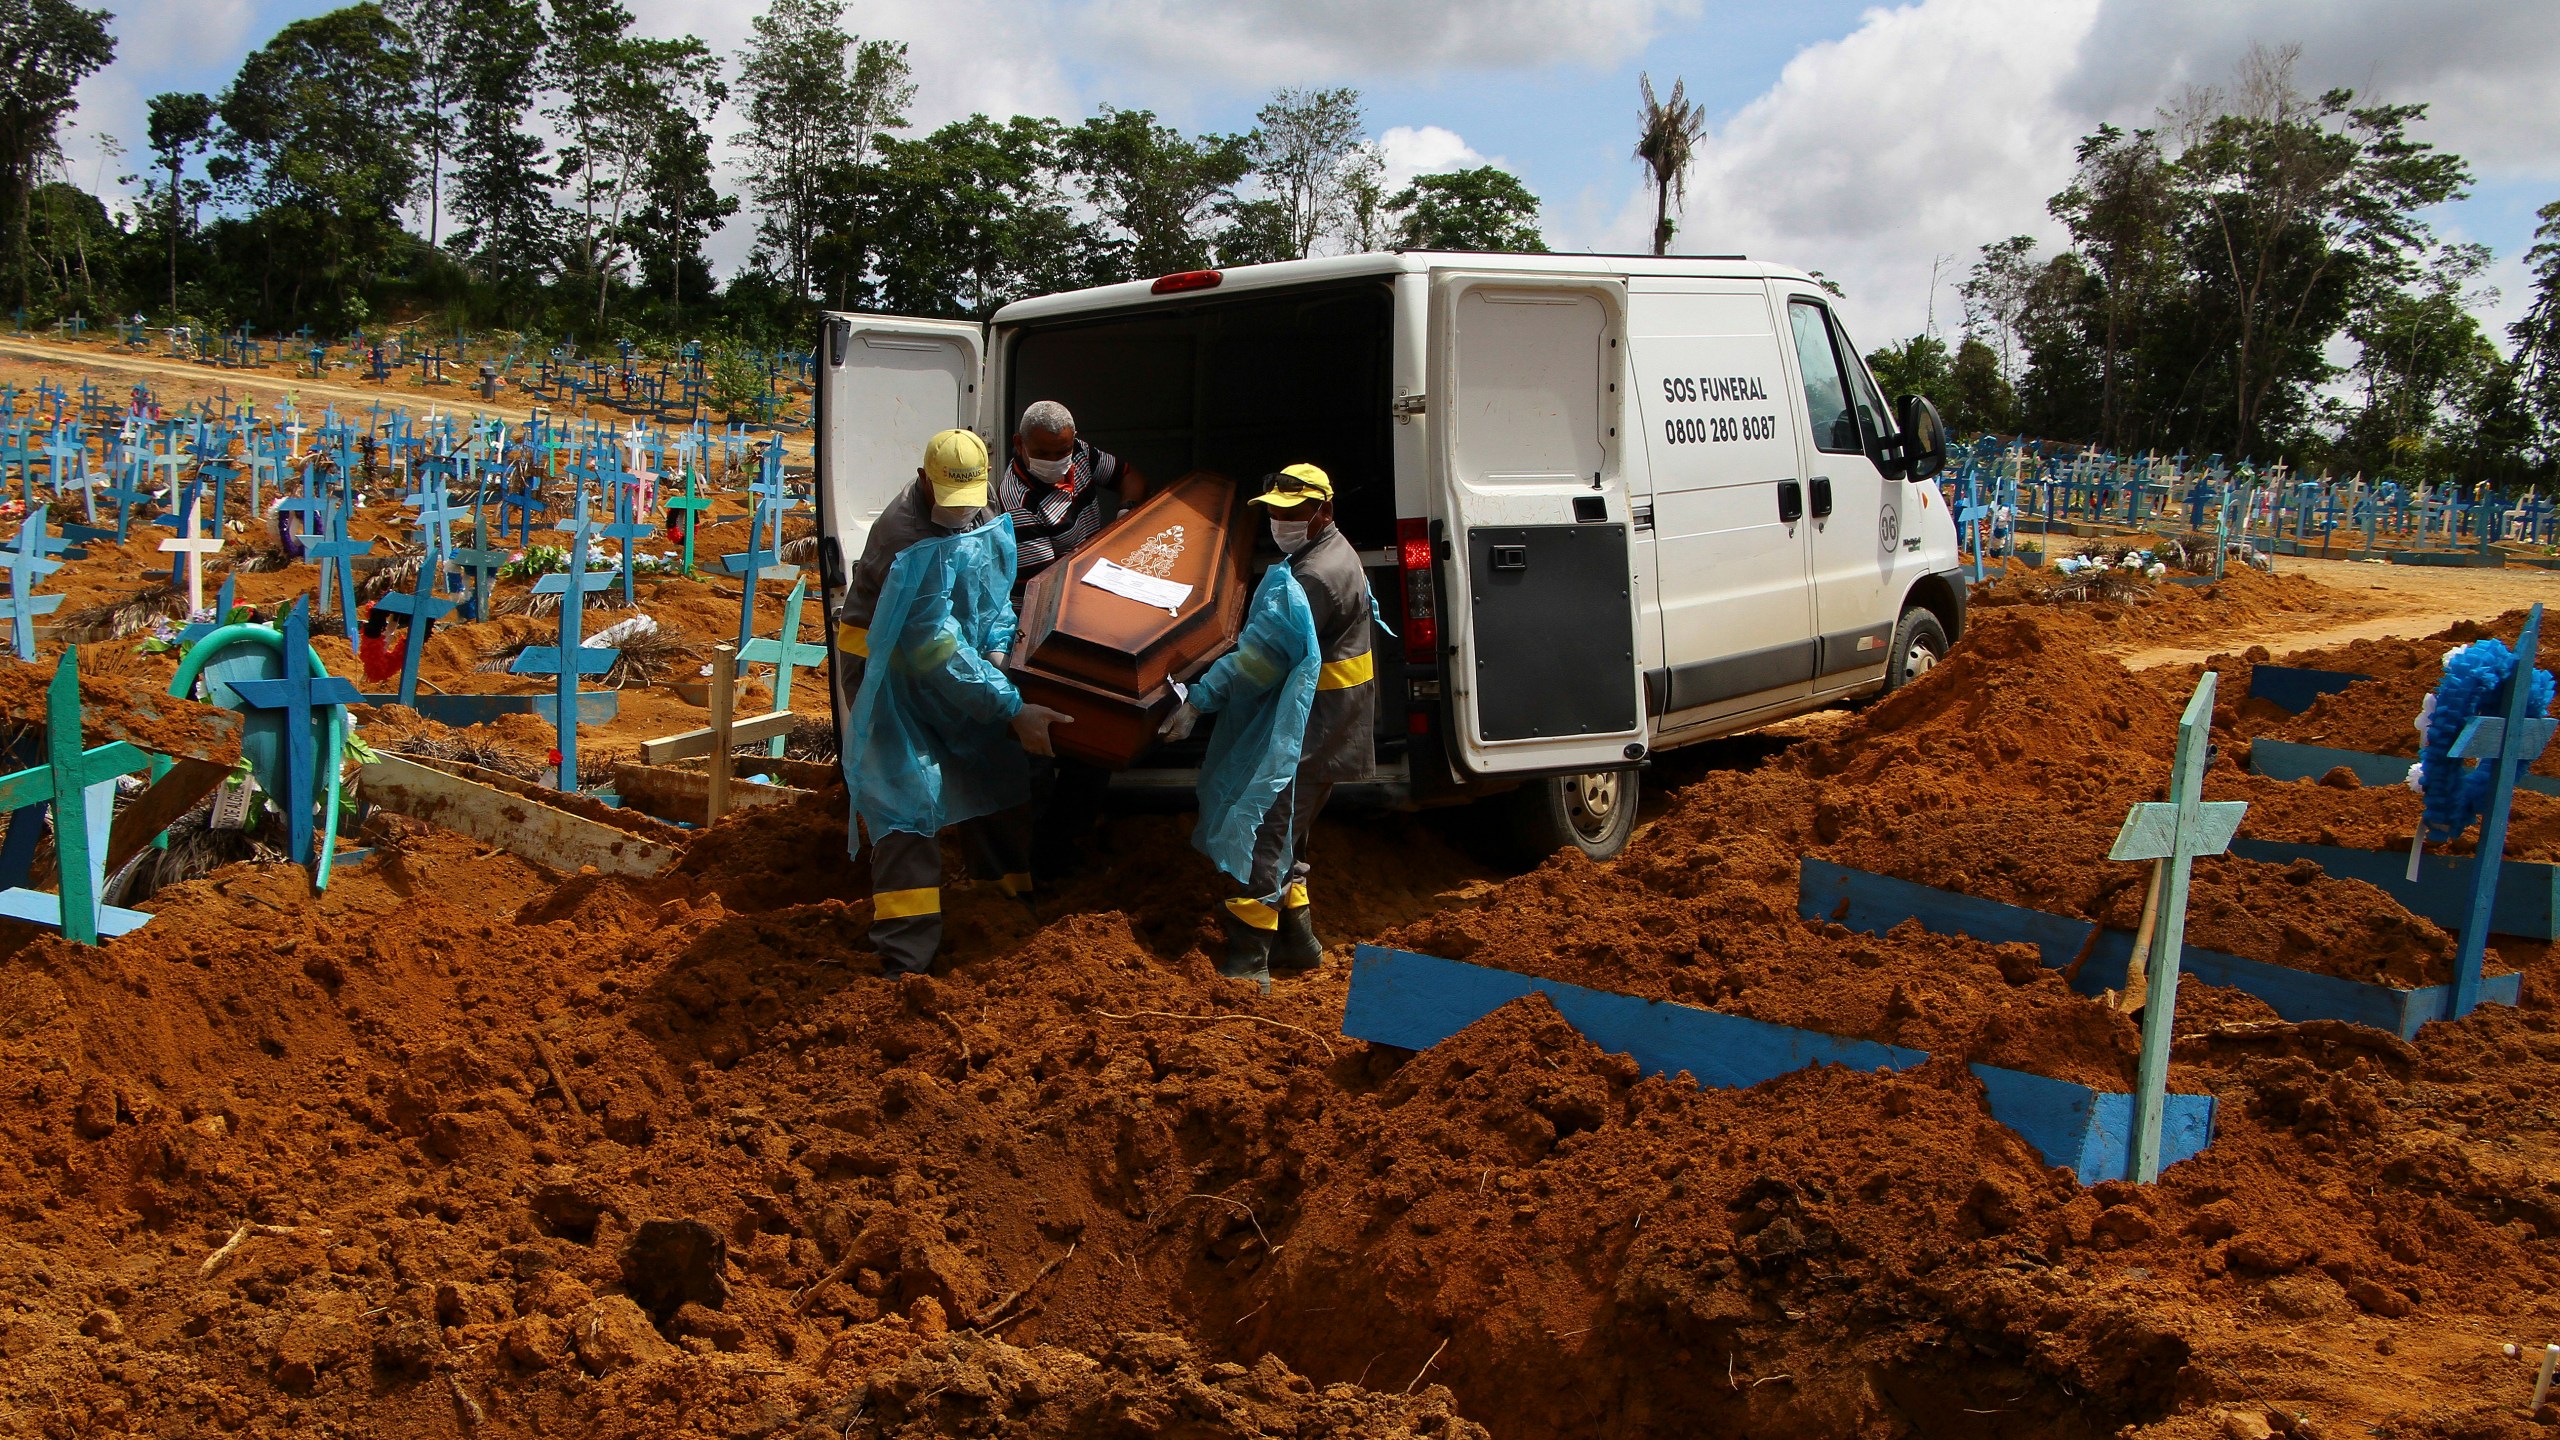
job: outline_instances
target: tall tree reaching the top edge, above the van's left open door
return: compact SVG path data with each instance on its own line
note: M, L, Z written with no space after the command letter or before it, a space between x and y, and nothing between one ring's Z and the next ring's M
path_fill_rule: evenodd
M860 228L858 192L845 184L883 133L906 128L916 87L906 46L850 36L842 0L776 0L753 31L737 79L748 195L763 210L758 251L794 295L809 295L822 228L829 218Z

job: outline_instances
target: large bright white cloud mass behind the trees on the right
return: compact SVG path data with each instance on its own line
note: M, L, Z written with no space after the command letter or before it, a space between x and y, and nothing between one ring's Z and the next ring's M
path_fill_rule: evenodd
M2150 126L2186 85L2227 82L2258 44L2301 44L2296 82L2427 100L2417 128L2483 177L2560 174L2560 5L2478 0L1923 0L1869 10L1800 51L1715 131L1674 249L1748 251L1848 287L1864 343L1938 328L1976 246L2061 228L2045 200L2099 120ZM1623 202L1613 218L1608 200ZM1641 246L1644 184L1577 210L1590 243ZM2445 225L2458 238L2458 223ZM2511 256L2491 277L2514 287ZM2506 297L2514 305L2514 295Z

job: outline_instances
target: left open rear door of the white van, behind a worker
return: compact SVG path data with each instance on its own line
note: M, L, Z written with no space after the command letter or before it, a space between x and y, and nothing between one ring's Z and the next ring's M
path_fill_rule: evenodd
M827 615L870 538L870 523L916 479L924 441L975 428L986 405L986 333L968 320L827 315L817 354L817 553ZM829 656L835 646L827 646ZM835 661L827 664L829 674ZM850 697L837 689L837 730Z

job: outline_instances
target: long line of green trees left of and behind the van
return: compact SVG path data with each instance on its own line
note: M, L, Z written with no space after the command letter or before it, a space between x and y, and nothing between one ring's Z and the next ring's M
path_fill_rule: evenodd
M108 20L0 5L0 284L38 323L799 338L819 305L978 318L1211 264L1544 249L1503 169L1390 192L1357 90L1280 90L1242 133L1114 105L914 133L906 46L850 33L842 0L773 0L735 56L643 36L622 0L348 5L218 95L151 97L110 208L61 151ZM714 179L724 108L740 195ZM704 243L732 223L755 251L719 284Z

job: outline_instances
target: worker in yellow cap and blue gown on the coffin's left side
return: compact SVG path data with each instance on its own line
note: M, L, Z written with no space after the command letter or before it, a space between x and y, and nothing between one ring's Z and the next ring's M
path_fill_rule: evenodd
M986 441L942 430L916 482L870 525L837 612L837 674L852 694L845 779L870 835L870 940L891 974L942 948L942 840L1029 894L1029 774L1065 715L1024 705L998 659L1014 643L1014 520L988 510ZM860 833L850 835L860 851Z

